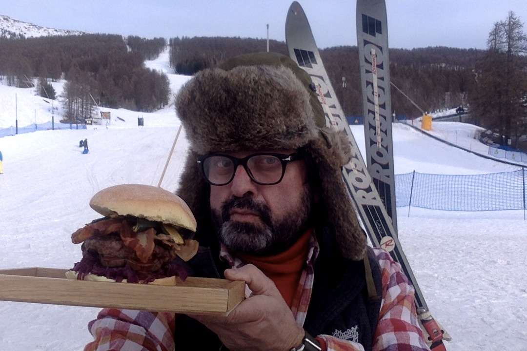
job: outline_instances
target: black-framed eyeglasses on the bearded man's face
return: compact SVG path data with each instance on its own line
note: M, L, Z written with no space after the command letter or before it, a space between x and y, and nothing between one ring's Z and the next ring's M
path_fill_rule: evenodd
M289 162L301 159L298 153L284 155L256 153L243 158L224 154L209 154L198 158L203 176L209 184L227 185L232 182L239 165L253 182L260 185L274 185L281 182Z

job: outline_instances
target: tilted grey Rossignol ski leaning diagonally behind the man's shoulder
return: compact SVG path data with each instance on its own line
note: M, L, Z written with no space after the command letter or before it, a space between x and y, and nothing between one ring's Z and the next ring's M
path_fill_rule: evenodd
M343 167L342 174L372 244L384 248L396 262L401 264L403 272L415 289L415 303L423 332L426 334L425 341L432 345L435 351L445 349L442 340L446 340L447 335L441 326L435 322L428 310L421 289L399 243L392 220L377 192L335 91L331 86L307 16L304 9L296 1L291 4L287 14L286 44L289 56L309 74L311 81L317 88L319 102L324 109L328 126L344 131L348 137L352 159ZM380 128L383 129L382 122ZM375 135L375 143L377 140ZM380 143L383 144L382 138ZM395 212L393 214L396 215Z

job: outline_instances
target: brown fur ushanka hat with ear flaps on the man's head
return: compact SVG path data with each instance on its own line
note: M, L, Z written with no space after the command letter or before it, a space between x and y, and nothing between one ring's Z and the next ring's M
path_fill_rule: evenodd
M350 159L347 139L326 128L311 79L294 61L276 53L231 58L197 73L181 88L175 105L190 142L178 195L196 216L200 242L207 242L203 234L212 233L212 225L210 185L198 156L301 147L320 179L317 208L325 213L317 216L334 226L343 258L363 259L366 236L341 175Z

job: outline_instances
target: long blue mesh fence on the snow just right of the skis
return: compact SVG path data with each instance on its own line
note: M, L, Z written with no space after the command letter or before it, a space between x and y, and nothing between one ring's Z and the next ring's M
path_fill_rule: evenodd
M395 176L397 207L452 211L525 210L526 178L525 168L477 175L398 174Z

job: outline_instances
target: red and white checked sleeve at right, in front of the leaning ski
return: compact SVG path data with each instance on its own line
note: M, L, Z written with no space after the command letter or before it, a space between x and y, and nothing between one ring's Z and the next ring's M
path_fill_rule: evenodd
M383 249L374 249L380 265L383 301L373 340L373 351L430 351L417 322L414 288L408 283L401 265ZM364 347L350 340L319 335L327 351L363 351Z

